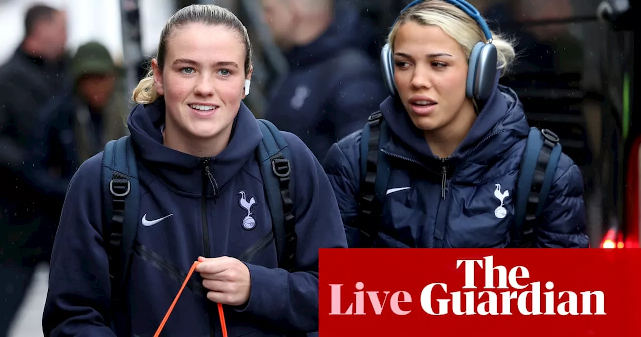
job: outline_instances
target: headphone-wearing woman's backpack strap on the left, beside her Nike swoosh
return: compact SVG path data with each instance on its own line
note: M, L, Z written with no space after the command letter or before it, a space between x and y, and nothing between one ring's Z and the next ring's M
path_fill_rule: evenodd
M378 218L380 201L385 196L389 180L387 160L379 151L387 143L389 134L383 123L383 114L374 112L363 127L360 140L360 219L356 226L365 236L364 244L371 245L376 233L372 221Z

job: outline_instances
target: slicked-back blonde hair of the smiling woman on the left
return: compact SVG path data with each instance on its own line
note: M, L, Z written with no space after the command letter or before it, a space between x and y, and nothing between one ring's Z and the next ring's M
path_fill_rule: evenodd
M221 24L222 26L226 26L237 32L246 48L245 73L248 74L251 71L251 68L253 67L253 51L251 42L249 41L247 28L233 12L215 4L191 4L181 8L178 12L174 13L171 18L169 18L169 21L165 24L165 28L163 28L160 33L160 42L158 42L158 55L156 56L156 61L158 62L158 67L161 71L165 64L167 40L169 40L172 33L174 33L178 28L185 24L194 22L208 25ZM133 89L132 99L135 103L151 104L158 98L160 98L160 94L158 94L154 85L153 69L149 69L147 76L140 80L137 87Z

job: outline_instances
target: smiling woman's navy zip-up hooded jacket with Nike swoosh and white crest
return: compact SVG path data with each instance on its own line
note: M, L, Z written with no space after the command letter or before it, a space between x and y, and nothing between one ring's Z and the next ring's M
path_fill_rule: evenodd
M262 133L241 105L227 148L201 159L163 146L162 103L139 105L128 127L138 153L140 223L134 243L126 312L128 333L153 336L188 270L200 255L244 259L251 295L243 307L225 306L229 336L283 336L317 331L319 248L344 248L345 234L328 178L294 135L292 181L298 235L297 272L277 268L271 215L254 149ZM106 327L110 282L103 248L101 160L84 162L72 177L56 236L42 326L45 336L117 336ZM213 181L204 175L208 165ZM213 189L218 186L218 193ZM256 225L243 226L245 200ZM192 275L163 336L221 336L218 311L206 298L203 279Z

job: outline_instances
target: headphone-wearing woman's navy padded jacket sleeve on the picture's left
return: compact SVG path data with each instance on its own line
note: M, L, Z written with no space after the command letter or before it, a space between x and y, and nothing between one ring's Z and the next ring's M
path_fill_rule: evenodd
M360 131L345 137L329 148L323 167L334 189L349 248L365 247L357 229L358 190L360 185Z

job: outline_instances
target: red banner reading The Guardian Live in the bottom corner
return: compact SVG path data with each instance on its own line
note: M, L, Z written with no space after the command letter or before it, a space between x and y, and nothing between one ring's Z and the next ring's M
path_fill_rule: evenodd
M322 249L320 336L641 336L639 249Z

